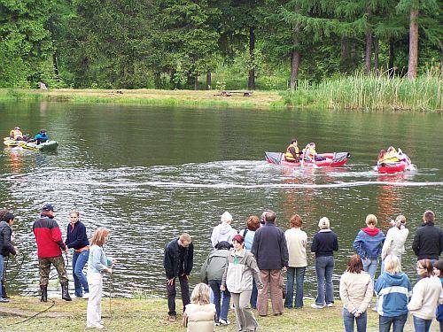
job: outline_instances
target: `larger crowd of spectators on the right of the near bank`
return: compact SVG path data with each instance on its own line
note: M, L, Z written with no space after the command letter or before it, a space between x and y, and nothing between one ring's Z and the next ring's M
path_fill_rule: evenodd
M238 233L232 228L232 221L229 212L221 215L221 223L211 235L213 250L201 267L202 282L191 297L188 280L194 247L190 235L184 233L167 243L164 265L169 321L176 320L175 280L178 278L183 325L188 331L214 331L216 326L229 324L231 298L238 331L258 328L253 308L260 316L268 315L268 292L275 316L282 315L284 307L304 306L307 233L302 229L301 217L293 215L286 231L276 226L276 213L272 211L263 212L260 219L248 217L246 228ZM412 250L417 259L417 282L412 287L409 276L414 273L409 272L408 276L401 269L409 233L405 216L392 220L392 228L386 235L377 228L375 215L366 217L365 227L354 239L355 254L348 259L339 283L346 332L354 331L354 325L357 331L366 331L369 307L378 313L379 331L391 328L394 332L403 331L408 313L417 332L429 331L435 318L439 320L440 330L443 329L443 259L439 259L443 251L443 230L436 227L434 221L434 212L424 212L423 225L414 235ZM310 248L315 253L317 280L315 303L311 307L322 310L334 306L332 274L334 252L339 248L338 236L330 228L328 218L319 220L318 228ZM381 273L376 279L380 262ZM258 293L255 296L254 289Z

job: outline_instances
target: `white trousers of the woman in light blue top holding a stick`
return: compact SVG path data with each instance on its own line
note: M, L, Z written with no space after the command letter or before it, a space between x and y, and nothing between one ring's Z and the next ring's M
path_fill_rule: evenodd
M89 299L88 309L86 310L86 325L88 328L94 328L101 325L102 320L102 274L88 274Z

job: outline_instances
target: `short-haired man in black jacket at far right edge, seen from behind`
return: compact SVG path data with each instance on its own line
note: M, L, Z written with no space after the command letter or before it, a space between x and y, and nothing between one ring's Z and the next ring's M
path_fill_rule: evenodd
M435 214L428 210L423 214L424 224L416 230L412 250L418 260L431 259L432 264L439 260L443 251L443 231L434 226Z

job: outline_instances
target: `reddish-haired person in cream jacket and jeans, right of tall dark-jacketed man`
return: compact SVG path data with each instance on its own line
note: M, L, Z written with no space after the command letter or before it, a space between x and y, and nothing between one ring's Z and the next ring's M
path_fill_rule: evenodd
M305 281L305 271L307 266L307 234L301 230L303 221L299 214L291 217L291 228L284 232L286 243L288 244L289 262L286 273L286 299L284 307L291 308L294 297L294 277L296 281L295 307L303 307L303 282Z

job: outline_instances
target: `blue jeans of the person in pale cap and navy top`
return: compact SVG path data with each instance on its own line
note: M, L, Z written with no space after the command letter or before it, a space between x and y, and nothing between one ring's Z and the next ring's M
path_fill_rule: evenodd
M317 274L317 297L315 305L334 303L334 288L332 286L332 271L334 270L334 257L323 256L315 259L315 274ZM324 291L326 284L326 292Z

